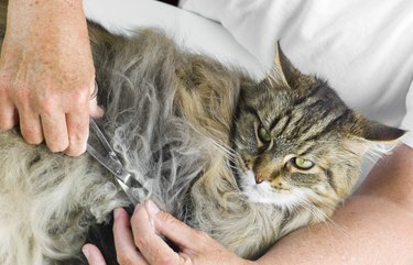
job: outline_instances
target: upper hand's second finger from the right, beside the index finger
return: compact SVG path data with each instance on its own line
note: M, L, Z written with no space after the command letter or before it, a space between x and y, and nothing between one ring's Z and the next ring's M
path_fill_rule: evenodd
M43 136L52 152L63 152L68 146L66 118L64 113L41 114Z

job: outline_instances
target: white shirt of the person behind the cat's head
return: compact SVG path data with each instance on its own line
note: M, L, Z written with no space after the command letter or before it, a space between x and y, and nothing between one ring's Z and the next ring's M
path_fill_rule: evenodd
M221 23L268 68L281 40L298 69L328 79L368 118L410 131L402 141L413 147L413 1L181 0L180 5Z

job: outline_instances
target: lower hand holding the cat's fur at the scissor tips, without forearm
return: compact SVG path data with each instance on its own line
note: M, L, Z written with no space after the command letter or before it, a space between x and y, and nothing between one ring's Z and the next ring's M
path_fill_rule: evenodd
M180 252L174 252L160 234L174 242ZM116 209L113 235L120 265L254 264L229 252L208 234L160 211L152 201L137 206L130 222L123 209ZM86 244L83 250L89 265L106 264L96 246Z

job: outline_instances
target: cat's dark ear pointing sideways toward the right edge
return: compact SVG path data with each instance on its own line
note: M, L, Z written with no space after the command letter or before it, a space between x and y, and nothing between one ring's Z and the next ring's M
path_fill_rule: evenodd
M356 124L352 126L352 133L371 142L392 142L401 137L405 131L381 124L379 122L369 121L360 114L355 114Z

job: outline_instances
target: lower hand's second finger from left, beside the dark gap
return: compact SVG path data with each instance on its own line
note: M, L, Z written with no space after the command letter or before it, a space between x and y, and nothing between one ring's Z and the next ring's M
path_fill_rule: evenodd
M115 209L113 216L115 249L119 264L148 265L134 245L128 213L123 209L118 208Z

